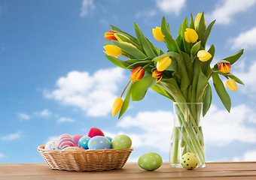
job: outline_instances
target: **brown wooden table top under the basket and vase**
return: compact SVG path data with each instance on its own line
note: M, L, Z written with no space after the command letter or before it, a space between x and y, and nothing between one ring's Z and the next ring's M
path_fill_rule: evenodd
M45 163L0 163L0 180L80 180L80 179L256 179L256 162L206 163L205 168L170 168L168 163L155 171L145 171L137 163L123 169L102 172L74 172L50 169Z

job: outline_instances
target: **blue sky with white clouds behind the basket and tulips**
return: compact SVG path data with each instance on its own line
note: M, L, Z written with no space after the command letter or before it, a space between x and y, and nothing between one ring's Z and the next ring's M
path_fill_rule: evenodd
M214 62L245 49L232 66L245 86L227 90L231 113L214 92L203 118L206 160L256 160L256 0L26 0L0 1L0 163L43 162L38 145L62 133L86 135L91 127L130 135L131 161L148 151L168 161L171 101L150 90L119 120L111 116L130 73L105 58L104 33L111 24L134 35L136 22L166 49L151 32L162 17L176 37L184 17L203 10L207 25L217 20L207 44L215 45Z

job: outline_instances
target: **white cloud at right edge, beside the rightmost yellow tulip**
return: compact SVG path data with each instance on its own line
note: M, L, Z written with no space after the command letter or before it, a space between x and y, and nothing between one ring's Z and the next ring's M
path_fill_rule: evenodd
M236 71L234 73L236 77L239 77L239 79L245 84L245 86L240 86L242 87L242 92L249 96L254 96L254 92L256 92L255 72L256 62L252 62L252 65L250 65L246 71Z

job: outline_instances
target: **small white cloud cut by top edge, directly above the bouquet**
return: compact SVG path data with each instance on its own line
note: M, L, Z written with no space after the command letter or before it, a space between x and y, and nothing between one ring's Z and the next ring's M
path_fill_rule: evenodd
M186 0L156 0L157 7L164 13L175 13L176 16L181 13L181 9L186 5Z

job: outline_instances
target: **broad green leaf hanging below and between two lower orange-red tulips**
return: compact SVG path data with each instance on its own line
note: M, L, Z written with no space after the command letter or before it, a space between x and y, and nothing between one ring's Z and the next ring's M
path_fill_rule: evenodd
M131 90L132 101L141 101L145 97L148 88L154 86L155 83L156 80L151 76L151 74L145 74L142 80L133 84L133 88Z

